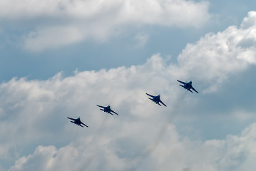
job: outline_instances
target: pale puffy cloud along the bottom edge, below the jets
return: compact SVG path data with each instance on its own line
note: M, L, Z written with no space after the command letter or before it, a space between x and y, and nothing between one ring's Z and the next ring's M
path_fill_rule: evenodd
M160 142L158 150L142 160L122 155L113 149L111 140L103 140L101 150L90 168L86 167L92 144L80 140L60 149L53 146L36 147L34 154L21 157L10 170L255 170L254 159L256 124L241 135L227 135L225 140L194 141L179 137L175 128L168 128L168 137ZM116 139L112 135L112 139ZM129 143L129 142L128 142ZM114 144L116 145L116 144ZM130 150L130 149L129 149ZM83 161L83 162L81 162ZM100 163L100 164L99 164ZM100 166L101 165L101 166Z

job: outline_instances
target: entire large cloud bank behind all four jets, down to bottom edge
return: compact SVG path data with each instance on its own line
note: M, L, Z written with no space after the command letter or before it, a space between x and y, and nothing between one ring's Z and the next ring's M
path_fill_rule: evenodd
M199 91L213 92L232 74L255 65L251 14L240 28L231 26L186 46L177 65L155 54L140 66L1 83L0 149L6 149L1 159L16 160L10 170L254 170L255 124L241 135L205 141L181 135L173 125L177 115L197 118L198 109L178 110L200 97L180 88L177 78L194 77L203 85ZM249 43L241 46L241 40ZM145 93L160 93L168 108L150 102ZM111 104L120 115L103 113L97 104ZM89 128L78 128L66 116L81 116Z

